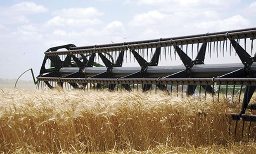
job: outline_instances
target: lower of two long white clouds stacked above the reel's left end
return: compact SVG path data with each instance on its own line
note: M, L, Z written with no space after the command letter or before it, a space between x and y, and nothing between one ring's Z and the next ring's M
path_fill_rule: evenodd
M96 25L101 23L100 19L94 18L94 19L74 19L74 18L63 18L60 16L55 16L49 21L45 23L46 26L52 27L52 26L59 26L59 27L65 27L65 26L72 26L72 27L79 27L79 26L88 26L88 25Z

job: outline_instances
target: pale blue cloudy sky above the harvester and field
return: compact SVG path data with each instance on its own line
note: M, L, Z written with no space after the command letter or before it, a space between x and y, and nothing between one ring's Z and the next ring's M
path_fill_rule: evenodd
M17 78L29 68L38 75L43 52L52 46L250 28L255 17L254 0L2 0L0 78Z

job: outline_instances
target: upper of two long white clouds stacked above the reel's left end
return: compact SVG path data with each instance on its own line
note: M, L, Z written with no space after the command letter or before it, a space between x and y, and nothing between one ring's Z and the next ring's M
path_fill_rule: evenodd
M102 12L98 11L94 7L60 9L54 11L52 14L54 16L62 16L64 18L90 18L103 15Z

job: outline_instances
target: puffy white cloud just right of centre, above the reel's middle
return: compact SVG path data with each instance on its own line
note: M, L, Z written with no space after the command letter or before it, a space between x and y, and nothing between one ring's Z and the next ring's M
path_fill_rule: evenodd
M144 26L157 23L157 21L163 19L168 15L160 13L159 11L153 10L147 13L135 14L133 20L130 21L131 26Z

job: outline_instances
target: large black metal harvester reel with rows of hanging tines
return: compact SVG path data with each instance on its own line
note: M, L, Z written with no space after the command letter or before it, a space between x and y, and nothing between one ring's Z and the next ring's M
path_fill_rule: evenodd
M244 92L242 109L240 113L232 114L232 118L236 120L236 129L241 118L243 128L245 121L250 122L250 132L251 122L256 122L256 115L246 114L245 111L247 108L256 109L255 104L249 105L256 88L256 57L251 57L255 38L256 28L249 28L95 46L57 46L45 52L40 75L37 77L37 87L47 85L50 88L59 86L81 90L108 88L112 91L141 88L143 92L154 88L155 91L159 89L168 94L178 94L180 89L181 96L186 91L187 96L196 94L199 98L203 91L204 99L206 93L216 95L219 99L221 87L225 87L223 93L226 94L227 101L228 93L232 93L234 101L238 87L239 101L242 91ZM240 45L242 39L244 48ZM247 43L251 44L251 55L247 52ZM62 48L66 51L59 51ZM213 53L224 56L235 51L242 63L204 64L207 50L210 57ZM188 56L188 52L192 58ZM193 52L197 53L195 58ZM159 60L176 59L176 55L183 65L158 66ZM127 60L136 60L140 67L122 67ZM51 69L45 68L47 61L50 61ZM95 67L100 63L104 66ZM230 87L231 92L228 91Z

